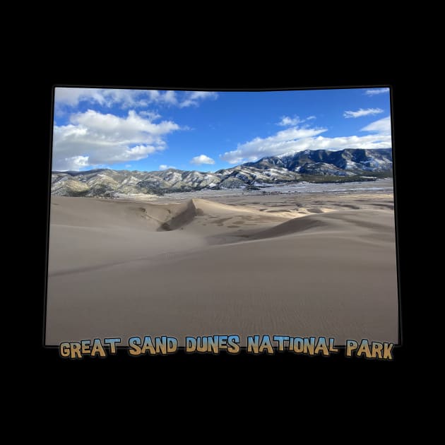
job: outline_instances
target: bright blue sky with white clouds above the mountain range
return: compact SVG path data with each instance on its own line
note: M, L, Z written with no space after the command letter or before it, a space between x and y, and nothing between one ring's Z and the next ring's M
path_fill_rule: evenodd
M391 147L388 88L59 88L53 170L215 172L302 150Z

